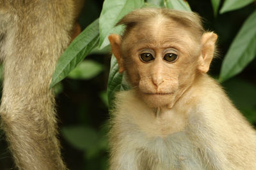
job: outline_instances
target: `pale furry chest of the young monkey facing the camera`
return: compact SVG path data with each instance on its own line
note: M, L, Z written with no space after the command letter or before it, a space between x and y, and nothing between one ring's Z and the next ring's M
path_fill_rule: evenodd
M118 151L120 169L207 169L185 125L176 125L179 129L173 130L174 123L170 121L150 121L144 117L134 118L132 113L116 117L116 122L122 124L114 125L118 141L110 143L118 144L113 150Z

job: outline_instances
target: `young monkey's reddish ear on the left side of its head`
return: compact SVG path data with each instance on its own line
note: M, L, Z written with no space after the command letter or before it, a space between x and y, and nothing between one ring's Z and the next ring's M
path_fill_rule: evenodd
M117 34L111 34L108 36L110 45L111 45L111 50L113 54L116 57L117 63L118 63L118 71L119 73L122 73L124 69L124 60L122 58L122 53L121 53L121 37Z

